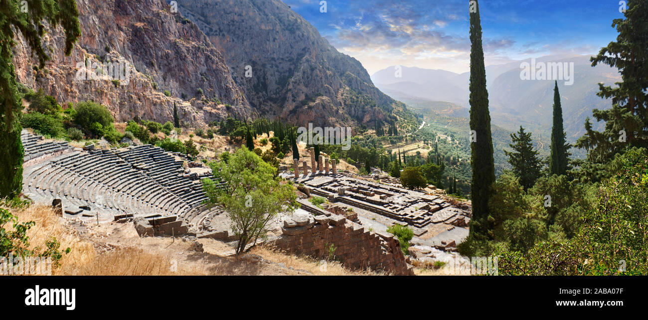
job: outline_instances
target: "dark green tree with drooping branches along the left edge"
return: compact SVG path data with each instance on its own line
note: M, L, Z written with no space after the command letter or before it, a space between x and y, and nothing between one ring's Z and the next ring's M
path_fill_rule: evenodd
M73 44L81 35L78 10L74 0L30 0L29 13L21 12L23 1L6 0L0 6L0 198L17 196L23 184L23 145L19 117L23 107L16 84L13 47L19 31L29 44L32 55L38 58L39 67L45 67L49 56L41 45L44 35L43 21L56 29L65 30L65 55L72 52Z

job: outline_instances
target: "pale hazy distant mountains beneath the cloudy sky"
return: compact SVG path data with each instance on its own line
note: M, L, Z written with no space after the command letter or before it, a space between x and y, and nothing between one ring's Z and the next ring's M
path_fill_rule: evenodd
M597 84L608 85L621 80L616 69L607 65L592 67L590 56L544 56L536 62L567 62L574 66L574 81L566 86L559 80L564 126L568 139L574 141L583 132L586 117L591 117L592 109L610 108L610 101L596 96ZM537 133L547 133L551 126L553 106L553 80L521 80L520 63L517 61L503 65L486 67L491 116L494 124L508 130L516 130L520 125ZM397 77L400 75L400 77ZM451 102L469 108L469 73L452 73L445 70L421 69L417 67L392 66L376 72L371 79L376 87L397 100L418 101L422 105L437 106L432 102ZM456 108L451 108L456 114ZM439 111L439 110L435 110ZM465 113L464 113L465 114Z

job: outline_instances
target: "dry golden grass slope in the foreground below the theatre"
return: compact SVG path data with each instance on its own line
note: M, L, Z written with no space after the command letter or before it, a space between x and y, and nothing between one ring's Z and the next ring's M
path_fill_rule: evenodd
M71 248L61 266L52 270L54 275L377 275L264 247L254 248L237 261L218 255L232 248L218 240L140 238L132 223L84 223L56 216L45 205L5 209L19 222L36 222L28 232L31 247L43 247L54 237L62 249ZM202 250L196 250L200 245Z

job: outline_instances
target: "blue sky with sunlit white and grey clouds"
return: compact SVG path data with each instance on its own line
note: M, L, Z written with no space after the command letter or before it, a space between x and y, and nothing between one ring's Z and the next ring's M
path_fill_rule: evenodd
M283 0L373 74L390 65L469 71L468 0ZM486 65L596 54L616 39L619 0L482 0Z

